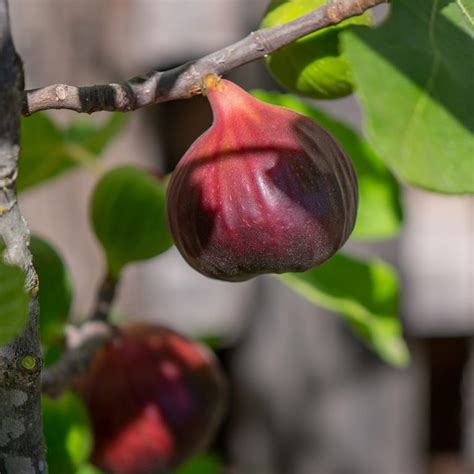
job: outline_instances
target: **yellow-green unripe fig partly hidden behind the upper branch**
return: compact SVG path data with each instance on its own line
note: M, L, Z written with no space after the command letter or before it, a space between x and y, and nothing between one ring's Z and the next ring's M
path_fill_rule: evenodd
M324 5L327 0L273 0L261 27L282 25ZM348 26L372 24L369 12L315 31L271 54L266 64L286 89L313 99L336 99L353 90L352 70L339 47Z

